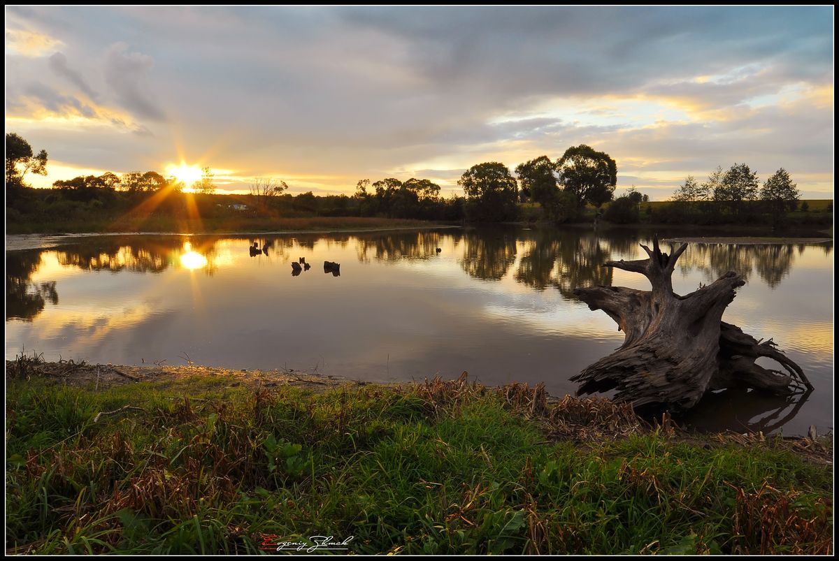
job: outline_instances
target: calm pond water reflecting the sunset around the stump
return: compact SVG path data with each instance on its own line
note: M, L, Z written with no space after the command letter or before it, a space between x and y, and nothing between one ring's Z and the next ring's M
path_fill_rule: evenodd
M667 232L659 232L666 236ZM24 347L91 362L165 360L294 368L367 380L456 377L489 385L568 378L623 341L572 289L649 289L600 265L646 257L639 231L440 230L289 236L90 236L6 252L6 358ZM21 240L7 239L9 247ZM252 255L258 242L266 252ZM23 244L25 245L25 244ZM48 244L49 245L49 244ZM436 249L440 248L440 252ZM293 274L300 257L309 270ZM324 261L341 264L340 276ZM803 434L833 424L832 243L691 244L673 278L688 293L735 270L723 319L773 337L816 391L706 398L685 422Z

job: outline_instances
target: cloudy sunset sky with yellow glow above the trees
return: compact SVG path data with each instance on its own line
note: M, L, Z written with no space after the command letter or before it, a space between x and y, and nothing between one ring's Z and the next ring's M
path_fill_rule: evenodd
M352 194L432 179L462 195L588 144L618 190L665 200L745 162L832 198L833 8L7 7L6 132L35 186L210 167Z

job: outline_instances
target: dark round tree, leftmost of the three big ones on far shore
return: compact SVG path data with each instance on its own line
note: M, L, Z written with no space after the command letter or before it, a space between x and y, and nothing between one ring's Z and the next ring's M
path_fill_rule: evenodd
M466 194L466 215L470 220L501 222L516 217L519 186L504 164L473 165L457 184Z

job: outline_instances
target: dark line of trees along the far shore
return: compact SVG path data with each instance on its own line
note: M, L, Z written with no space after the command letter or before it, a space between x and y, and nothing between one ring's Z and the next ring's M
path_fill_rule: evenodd
M7 206L25 212L15 199L27 187L28 173L46 174L45 150L34 153L28 142L12 132L6 135ZM216 192L213 174L203 169L201 179L189 187L203 195ZM484 162L467 169L457 184L463 196L444 198L440 185L430 179L361 179L352 195L315 195L311 191L290 195L289 185L280 179L257 178L248 185L249 195L238 196L248 212L259 216L378 216L440 221L503 222L522 220L528 207L538 205L541 218L563 223L585 219L586 206L595 216L615 223L641 221L641 203L649 201L634 187L614 198L618 166L605 152L581 144L565 150L560 157L547 155L519 164L514 174L499 162ZM61 199L86 203L90 210L119 206L124 200L136 203L162 191L179 192L185 184L156 171L128 174L86 175L55 181ZM125 194L125 195L122 195ZM235 196L235 195L234 195ZM49 199L49 197L48 197ZM789 210L795 210L800 193L789 173L781 168L763 186L758 174L747 164L722 167L699 183L688 176L675 190L668 205L647 207L646 221L670 223L722 223L765 221L783 226ZM50 200L47 201L48 203ZM51 199L55 203L55 197ZM528 205L529 203L529 205ZM26 204L34 204L32 200ZM604 207L605 205L605 207ZM176 213L183 205L159 206ZM216 203L216 206L220 205ZM206 205L201 210L219 212ZM64 205L63 210L67 210ZM832 208L830 209L832 211ZM292 213L289 215L289 213ZM595 219L597 220L597 218Z

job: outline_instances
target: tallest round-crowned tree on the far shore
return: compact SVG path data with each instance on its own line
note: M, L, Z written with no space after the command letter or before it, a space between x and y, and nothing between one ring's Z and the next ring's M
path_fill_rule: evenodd
M585 144L572 146L556 162L555 169L565 190L576 197L577 208L581 209L586 203L599 208L612 200L618 183L618 164L609 154L597 152Z

